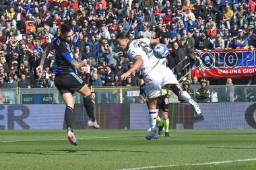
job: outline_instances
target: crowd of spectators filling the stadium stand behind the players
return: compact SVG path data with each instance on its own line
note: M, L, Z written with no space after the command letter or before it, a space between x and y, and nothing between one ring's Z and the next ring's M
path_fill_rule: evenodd
M115 37L158 38L168 46L168 67L178 79L193 50L247 49L256 45L252 0L1 0L0 88L55 87L55 52L36 73L46 46L61 36L61 24L73 29L73 56L87 59L77 73L89 86L137 86L139 72L122 81L133 66Z

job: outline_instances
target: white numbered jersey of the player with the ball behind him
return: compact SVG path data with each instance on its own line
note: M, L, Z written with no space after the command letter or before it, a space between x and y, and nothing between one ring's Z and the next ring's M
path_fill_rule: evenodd
M148 75L148 73L150 73L150 71L154 69L156 65L162 65L163 63L167 62L166 58L159 59L154 56L153 49L150 47L150 39L148 38L132 40L132 42L129 44L127 54L130 58L141 56L143 65L139 70L141 71L142 75Z

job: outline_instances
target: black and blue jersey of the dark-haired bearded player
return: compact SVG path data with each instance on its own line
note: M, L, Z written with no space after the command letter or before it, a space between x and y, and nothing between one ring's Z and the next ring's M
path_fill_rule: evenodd
M75 72L75 69L70 65L73 58L73 45L65 42L61 36L53 40L55 46L55 61L53 63L53 73L64 74Z

